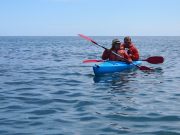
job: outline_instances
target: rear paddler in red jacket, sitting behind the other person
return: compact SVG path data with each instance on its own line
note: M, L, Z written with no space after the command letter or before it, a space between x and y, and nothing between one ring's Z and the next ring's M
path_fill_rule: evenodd
M124 48L127 48L127 53L131 57L133 61L139 60L139 52L135 45L131 42L131 38L129 36L124 38L124 43L122 44Z

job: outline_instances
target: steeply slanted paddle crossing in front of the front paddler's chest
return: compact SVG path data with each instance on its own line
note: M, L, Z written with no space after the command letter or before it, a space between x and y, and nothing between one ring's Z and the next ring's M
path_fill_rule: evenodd
M87 36L85 36L85 35L83 35L83 34L79 34L79 36L82 37L82 38L84 38L84 39L86 39L86 40L88 40L88 41L90 41L90 42L92 42L92 43L94 43L94 44L96 44L97 46L99 46L99 47L101 47L101 48L103 48L103 49L107 49L106 47L98 44L97 42L95 42L94 40L92 40L91 38L89 38L89 37L87 37ZM119 56L120 58L122 58L123 60L125 60L126 62L128 62L127 59L123 58L121 55L115 53L114 51L111 51L111 53L113 53L113 54L116 55L116 56ZM136 66L139 70L152 70L151 68L146 67L146 66L139 66L139 65L136 65L136 64L134 64L134 63L132 63L132 64L133 64L134 66Z

